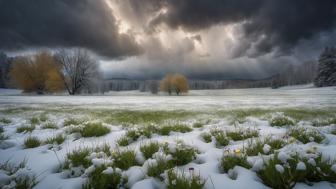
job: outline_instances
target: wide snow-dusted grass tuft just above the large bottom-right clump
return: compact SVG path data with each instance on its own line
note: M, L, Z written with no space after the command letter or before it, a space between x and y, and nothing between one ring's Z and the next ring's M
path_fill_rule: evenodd
M288 134L304 144L308 142L321 143L325 139L325 136L315 129L291 128Z

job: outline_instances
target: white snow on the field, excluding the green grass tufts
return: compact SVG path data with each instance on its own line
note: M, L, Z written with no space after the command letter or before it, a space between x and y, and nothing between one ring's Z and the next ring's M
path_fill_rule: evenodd
M1 90L0 90L1 93ZM14 93L11 93L14 94ZM23 124L29 123L29 118L32 115L39 115L46 110L56 109L62 110L63 108L71 108L74 111L76 108L85 108L88 110L104 110L104 109L127 109L127 110L192 110L211 112L220 110L231 110L236 108L302 108L302 109L315 109L315 108L328 108L336 107L336 91L335 88L313 88L311 86L300 87L286 87L280 89L233 89L233 90L216 90L216 91L191 91L188 96L154 96L154 95L137 95L137 92L120 92L109 93L106 96L23 96L23 95L5 95L0 96L0 110L6 108L21 108L33 107L41 108L36 112L23 112L13 115L7 115L0 112L0 118L9 116L12 123L4 126L4 133L10 138L0 142L0 163L10 160L11 162L19 163L22 160L27 160L27 165L30 169L19 171L15 175L31 174L32 172L39 176L39 183L35 189L56 189L56 188L81 188L82 184L87 180L87 176L92 173L97 166L108 164L104 174L112 174L114 171L122 173L123 176L128 177L127 187L133 189L151 189L165 188L164 182L159 179L154 179L146 175L148 165L155 165L158 160L171 160L172 156L164 153L160 148L151 159L145 159L142 153L139 152L139 146L148 141L167 142L168 149L171 152L180 148L177 141L183 141L186 145L198 149L196 159L186 165L177 166L175 169L189 173L189 168L194 168L196 174L200 174L201 178L206 181L205 188L222 188L225 186L227 189L235 188L269 188L263 184L261 179L257 176L256 172L264 168L265 162L268 161L273 155L258 155L248 157L248 162L252 165L251 169L236 166L230 170L229 173L220 172L219 160L224 151L233 152L240 150L243 152L243 147L246 147L247 140L245 141L231 141L228 146L216 148L215 141L205 143L200 137L203 132L209 132L213 128L223 130L234 129L230 120L226 118L215 118L213 121L207 123L203 128L193 129L188 133L172 132L169 136L153 135L152 139L141 137L127 147L121 148L135 150L136 161L141 165L130 167L128 170L120 170L113 168L110 164L113 163L109 157L103 152L93 152L88 155L88 160L92 162L88 168L82 166L73 167L70 165L69 170L56 173L60 162L65 160L66 154L79 149L81 147L96 147L102 144L108 144L112 149L118 149L116 140L125 134L125 128L120 125L104 123L105 126L111 129L111 133L102 137L82 138L78 134L71 134L66 136L66 141L63 144L56 145L42 145L37 148L24 149L23 142L29 135L36 136L41 140L45 140L50 136L55 136L58 133L64 133L67 128L63 128L62 124L64 119L76 116L66 115L62 111L55 114L50 114L51 121L58 125L57 130L37 129L32 133L16 133L16 128ZM85 116L85 115L79 115ZM211 116L206 115L206 119L212 119ZM190 118L187 120L187 125L192 125L199 117ZM300 127L311 128L311 123L302 121L299 123ZM248 117L244 123L236 123L236 127L241 129L253 128L260 132L260 139L266 136L272 138L285 138L286 128L270 127L267 118L264 117ZM328 134L330 126L318 128L326 137L326 142L318 143L292 143L286 147L275 150L270 145L265 144L262 148L264 154L269 154L273 150L278 153L279 160L285 165L290 155L298 153L308 159L307 163L315 166L314 154L307 155L305 152L313 149L316 153L322 153L323 158L336 156L336 136ZM259 139L258 138L258 139ZM289 139L288 139L289 140ZM282 164L280 163L280 164ZM278 172L283 173L284 167L276 165L275 168ZM308 165L307 164L307 165ZM296 166L298 170L305 170L306 165L304 162L299 162ZM28 173L25 171L28 170ZM336 164L331 166L331 170L336 173ZM11 183L12 175L0 169L0 188L12 187L15 183ZM1 183L6 183L7 186L2 187ZM304 183L298 183L295 188L332 188L329 182L312 183L308 186Z

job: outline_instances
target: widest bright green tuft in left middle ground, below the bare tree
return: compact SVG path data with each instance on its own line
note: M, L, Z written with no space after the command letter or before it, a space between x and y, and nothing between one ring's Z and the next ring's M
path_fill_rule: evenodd
M80 134L83 137L99 137L108 134L110 131L110 128L103 126L100 122L87 123L80 131Z

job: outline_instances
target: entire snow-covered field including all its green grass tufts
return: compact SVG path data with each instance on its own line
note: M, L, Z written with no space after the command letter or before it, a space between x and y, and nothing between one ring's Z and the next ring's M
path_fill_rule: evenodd
M335 124L333 87L178 97L7 90L0 95L0 188L34 180L38 189L336 188Z

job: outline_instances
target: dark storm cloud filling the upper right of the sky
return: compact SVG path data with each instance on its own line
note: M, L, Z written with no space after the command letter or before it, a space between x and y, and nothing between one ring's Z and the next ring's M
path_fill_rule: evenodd
M254 48L251 56L275 50L290 53L300 40L336 27L335 0L166 0L161 5L167 12L156 16L151 25L166 23L198 31L242 23L249 45L240 49L239 56L249 48Z

